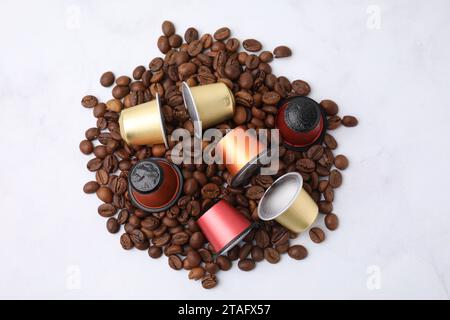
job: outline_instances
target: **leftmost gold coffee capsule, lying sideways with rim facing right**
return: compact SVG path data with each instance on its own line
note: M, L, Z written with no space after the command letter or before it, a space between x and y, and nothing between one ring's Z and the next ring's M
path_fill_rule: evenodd
M152 101L122 110L119 118L120 135L127 144L162 144L166 148L167 134L159 96Z

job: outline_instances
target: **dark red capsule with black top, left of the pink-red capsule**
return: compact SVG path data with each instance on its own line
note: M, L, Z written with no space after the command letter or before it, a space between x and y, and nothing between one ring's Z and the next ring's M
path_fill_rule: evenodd
M132 203L146 212L169 209L181 195L183 176L180 169L164 158L139 161L128 176Z

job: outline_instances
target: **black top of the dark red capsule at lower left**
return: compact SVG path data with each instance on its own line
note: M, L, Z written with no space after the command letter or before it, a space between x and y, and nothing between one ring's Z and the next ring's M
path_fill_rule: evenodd
M157 189L162 181L160 166L151 160L138 162L131 170L129 181L131 187L139 193L150 193Z

